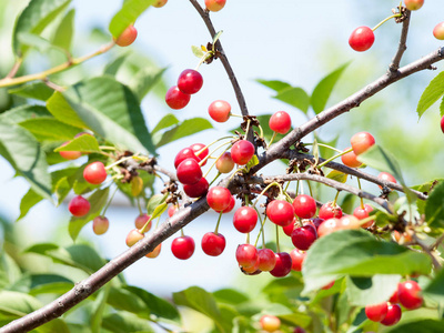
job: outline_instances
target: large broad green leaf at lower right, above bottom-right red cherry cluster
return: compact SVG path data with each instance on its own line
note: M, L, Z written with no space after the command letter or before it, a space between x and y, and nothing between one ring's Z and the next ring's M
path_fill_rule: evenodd
M362 230L343 230L319 239L307 251L302 273L304 293L343 275L428 274L431 259L393 242L380 241Z

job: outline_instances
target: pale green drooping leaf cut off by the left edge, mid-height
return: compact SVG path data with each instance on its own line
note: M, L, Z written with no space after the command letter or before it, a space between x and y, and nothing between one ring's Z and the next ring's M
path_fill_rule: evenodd
M44 153L30 132L14 123L1 121L0 154L31 184L36 193L52 201Z

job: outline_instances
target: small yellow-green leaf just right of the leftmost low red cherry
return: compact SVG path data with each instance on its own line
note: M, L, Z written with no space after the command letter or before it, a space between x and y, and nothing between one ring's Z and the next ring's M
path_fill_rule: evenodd
M81 218L77 216L71 218L70 223L68 225L68 230L73 241L77 240L80 231L88 222L92 221L95 216L100 215L102 209L108 202L109 191L110 188L105 188L103 190L97 190L88 198L88 201L91 204L91 209L88 212L88 214Z

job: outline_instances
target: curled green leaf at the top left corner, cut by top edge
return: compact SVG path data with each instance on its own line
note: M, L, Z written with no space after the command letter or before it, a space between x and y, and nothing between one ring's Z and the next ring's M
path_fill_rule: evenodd
M40 34L70 2L71 0L31 0L16 22L12 39L16 56L22 57L28 50L19 40L20 33Z

